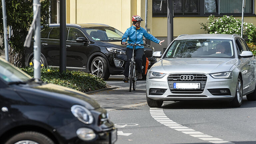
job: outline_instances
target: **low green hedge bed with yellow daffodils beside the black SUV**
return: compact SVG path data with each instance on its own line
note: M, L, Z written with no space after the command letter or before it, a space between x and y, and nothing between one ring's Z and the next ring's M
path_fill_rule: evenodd
M33 77L33 67L21 68L24 72ZM94 75L82 71L69 71L59 73L58 68L41 68L41 79L48 83L53 83L81 92L94 91L108 87L107 83Z

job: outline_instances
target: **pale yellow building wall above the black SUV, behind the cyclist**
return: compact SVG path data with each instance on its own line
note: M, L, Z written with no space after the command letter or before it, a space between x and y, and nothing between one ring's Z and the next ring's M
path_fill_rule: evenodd
M145 19L145 0L66 0L66 7L67 23L107 24L123 33L131 27L133 15ZM152 0L148 0L148 28L152 30Z

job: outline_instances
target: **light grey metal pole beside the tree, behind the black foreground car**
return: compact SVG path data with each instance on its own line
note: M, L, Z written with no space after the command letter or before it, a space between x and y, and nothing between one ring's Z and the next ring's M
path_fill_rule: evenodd
M33 0L33 16L35 20L34 31L34 78L38 82L41 79L41 62L40 62L40 0Z

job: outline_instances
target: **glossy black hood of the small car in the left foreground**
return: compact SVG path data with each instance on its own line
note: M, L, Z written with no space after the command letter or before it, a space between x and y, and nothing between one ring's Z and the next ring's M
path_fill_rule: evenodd
M87 109L96 109L100 105L89 95L77 90L55 84L26 84L15 86L15 91L28 103L51 107L71 108L78 104Z

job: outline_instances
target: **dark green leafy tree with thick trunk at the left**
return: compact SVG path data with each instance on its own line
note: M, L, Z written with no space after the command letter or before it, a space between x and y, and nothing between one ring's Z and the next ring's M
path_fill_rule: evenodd
M47 26L50 12L50 0L41 0L41 25ZM7 26L12 26L9 39L9 61L17 67L25 66L25 48L23 47L28 29L33 21L33 0L6 0ZM2 2L0 1L2 9ZM0 19L3 18L0 11ZM4 37L3 21L0 21L0 35ZM4 49L3 46L0 47Z

